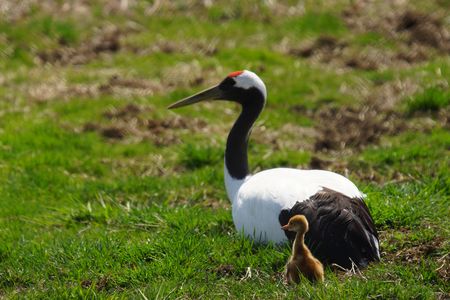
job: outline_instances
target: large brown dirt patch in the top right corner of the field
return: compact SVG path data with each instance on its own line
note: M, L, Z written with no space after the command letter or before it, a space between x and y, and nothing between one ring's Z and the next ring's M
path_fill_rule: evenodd
M380 14L380 12L383 12ZM354 1L342 17L356 33L378 32L395 40L397 50L380 49L376 45L355 49L345 40L321 36L300 45L285 39L278 50L293 56L338 67L380 70L407 67L425 61L435 49L450 53L450 30L445 15L425 14L411 10L406 1Z

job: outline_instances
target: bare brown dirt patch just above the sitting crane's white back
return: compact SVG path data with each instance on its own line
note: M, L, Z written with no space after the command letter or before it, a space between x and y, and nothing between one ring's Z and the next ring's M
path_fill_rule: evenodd
M444 113L439 114L438 121L433 121L429 117L408 119L395 111L401 99L416 93L418 89L418 84L411 80L393 80L375 86L362 83L343 91L352 97L362 98L363 102L359 106L337 108L332 104L324 104L317 110L311 110L297 105L291 109L316 120L314 135L311 136L315 140L314 150L354 151L378 143L384 135L396 135L408 129L427 131L436 122L442 126L448 124ZM321 158L320 153L316 154L311 167L333 167L345 171L345 166L336 165L333 161ZM375 172L370 173L371 178L378 177Z

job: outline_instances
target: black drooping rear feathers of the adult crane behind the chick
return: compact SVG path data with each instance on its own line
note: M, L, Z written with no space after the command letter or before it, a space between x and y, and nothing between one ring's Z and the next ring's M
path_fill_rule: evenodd
M280 224L286 225L298 214L305 215L309 223L305 243L322 263L351 268L352 261L365 267L379 260L378 234L362 199L324 188L291 209L282 210ZM294 232L285 233L290 241L294 240Z

